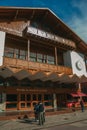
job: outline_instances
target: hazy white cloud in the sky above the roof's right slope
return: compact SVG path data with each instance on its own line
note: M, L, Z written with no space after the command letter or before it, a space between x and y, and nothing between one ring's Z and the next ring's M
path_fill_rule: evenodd
M68 22L68 25L85 41L87 42L87 3L85 0L79 1L76 3L75 1L72 4L73 7L78 9L81 13L75 14L73 13L72 18Z

